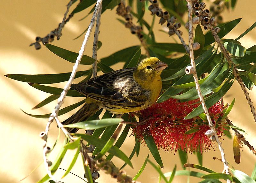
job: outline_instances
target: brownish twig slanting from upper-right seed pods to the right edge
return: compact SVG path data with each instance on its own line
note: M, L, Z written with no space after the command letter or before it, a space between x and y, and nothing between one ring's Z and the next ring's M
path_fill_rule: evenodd
M210 29L211 29L211 31L212 31L212 35L213 35L215 41L216 41L217 44L219 45L220 50L221 50L221 52L223 53L224 57L227 59L229 65L234 65L234 63L233 63L231 57L230 57L229 54L228 54L228 51L225 49L224 45L221 43L221 40L220 40L218 34L216 33L214 27L212 27L212 25L210 26ZM250 108L251 108L251 112L252 112L254 121L256 122L256 112L255 112L255 108L254 108L254 106L253 106L252 99L250 98L250 95L249 95L249 93L247 92L246 87L245 87L245 85L244 85L244 82L243 82L243 80L241 79L241 77L240 77L240 75L239 75L239 72L237 71L235 65L234 65L234 67L233 67L233 73L234 73L234 76L235 76L236 80L238 81L239 85L241 86L241 88L242 88L242 90L243 90L243 92L244 92L244 95L245 95L245 97L246 97L246 99L247 99L247 102L248 102L248 104L249 104L249 106L250 106Z

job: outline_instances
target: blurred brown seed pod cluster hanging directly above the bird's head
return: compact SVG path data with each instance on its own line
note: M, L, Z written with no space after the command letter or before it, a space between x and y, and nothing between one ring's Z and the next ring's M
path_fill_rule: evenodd
M137 34L139 39L141 40L143 38L142 34L142 27L141 26L136 26L133 22L133 16L130 13L132 10L131 6L125 6L125 2L121 1L121 3L118 4L116 8L116 14L124 17L126 20L125 27L130 28L132 34Z

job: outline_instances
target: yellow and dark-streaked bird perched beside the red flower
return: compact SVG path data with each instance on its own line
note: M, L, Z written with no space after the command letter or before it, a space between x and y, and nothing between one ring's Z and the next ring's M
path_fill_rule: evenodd
M113 114L124 114L148 108L156 102L161 90L161 72L168 65L156 57L142 60L137 67L125 68L94 77L79 84L72 84L86 97L84 106L63 125L86 121L100 109ZM77 129L69 128L70 133Z

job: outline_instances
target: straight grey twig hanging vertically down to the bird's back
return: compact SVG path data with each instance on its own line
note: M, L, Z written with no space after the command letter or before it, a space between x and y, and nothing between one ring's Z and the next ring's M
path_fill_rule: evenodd
M100 17L101 17L101 9L100 6L99 13L97 15L96 27L94 32L94 40L92 45L92 58L95 59L95 62L92 64L92 77L97 76L97 49L98 49L98 41L99 41L99 33L100 33Z

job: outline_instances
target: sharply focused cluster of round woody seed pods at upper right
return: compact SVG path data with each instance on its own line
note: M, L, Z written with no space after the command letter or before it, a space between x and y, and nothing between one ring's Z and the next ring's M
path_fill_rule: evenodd
M199 0L192 0L193 4L193 13L196 15L192 19L193 24L199 24L201 23L202 26L204 26L204 30L210 29L211 26L216 25L216 20L214 17L211 18L212 14L210 10L204 9L205 8L205 3L204 2L199 2ZM185 27L188 28L188 23L186 23ZM215 28L216 32L220 32L220 28L216 27Z

